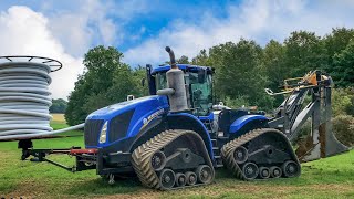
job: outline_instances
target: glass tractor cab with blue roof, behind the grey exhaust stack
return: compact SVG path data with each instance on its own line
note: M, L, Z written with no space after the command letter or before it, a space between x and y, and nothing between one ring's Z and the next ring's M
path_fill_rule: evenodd
M187 103L192 115L208 116L212 108L212 69L189 64L177 64L184 72L184 80L187 93ZM163 65L152 69L146 66L148 87L150 95L156 91L167 88L166 72L170 65Z

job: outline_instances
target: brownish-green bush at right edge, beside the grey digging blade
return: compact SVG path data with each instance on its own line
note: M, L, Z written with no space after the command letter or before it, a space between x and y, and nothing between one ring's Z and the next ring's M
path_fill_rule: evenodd
M332 119L336 138L346 146L354 146L354 117L339 115Z

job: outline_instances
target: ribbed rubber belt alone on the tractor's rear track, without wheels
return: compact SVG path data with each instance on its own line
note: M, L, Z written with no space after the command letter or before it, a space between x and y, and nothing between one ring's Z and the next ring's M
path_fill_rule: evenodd
M221 148L221 158L222 158L222 163L223 165L232 172L233 176L236 176L238 179L241 179L241 180L248 180L244 178L244 176L242 175L242 170L241 168L239 167L239 165L236 163L235 158L233 158L233 151L237 147L241 146L241 145L244 145L246 143L252 140L253 138L262 135L262 134L267 134L267 133L274 133L274 132L278 132L281 136L284 137L284 135L280 132L280 130L277 130L277 129L273 129L273 128L259 128L259 129L254 129L254 130L251 130L227 144L223 145L223 147ZM288 146L291 147L291 144L289 142L289 139L287 137L284 137L285 140L288 140ZM291 149L292 154L291 156L293 157L293 159L298 163L298 158L294 154L294 151Z

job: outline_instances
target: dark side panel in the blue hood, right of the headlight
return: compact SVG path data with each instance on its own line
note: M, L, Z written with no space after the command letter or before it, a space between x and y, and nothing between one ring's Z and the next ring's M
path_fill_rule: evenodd
M115 116L110 123L110 143L125 137L135 109Z

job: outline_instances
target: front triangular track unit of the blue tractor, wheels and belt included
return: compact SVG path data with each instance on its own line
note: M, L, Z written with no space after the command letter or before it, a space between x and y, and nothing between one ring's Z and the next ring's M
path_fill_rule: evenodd
M136 148L132 164L142 184L155 189L207 185L215 170L201 137L192 130L166 130Z

